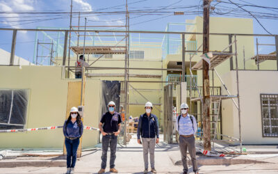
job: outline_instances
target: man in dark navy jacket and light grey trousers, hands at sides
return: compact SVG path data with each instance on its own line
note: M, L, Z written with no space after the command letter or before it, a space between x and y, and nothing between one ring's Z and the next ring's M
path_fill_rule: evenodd
M138 143L143 146L143 157L145 163L144 173L148 173L148 155L151 163L152 173L156 173L154 168L154 148L159 142L158 118L152 112L152 103L145 104L145 113L143 113L138 122L137 139ZM142 142L141 138L142 137Z

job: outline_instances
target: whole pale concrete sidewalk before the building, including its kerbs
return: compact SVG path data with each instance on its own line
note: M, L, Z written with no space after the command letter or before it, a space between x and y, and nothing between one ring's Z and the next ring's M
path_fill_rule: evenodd
M272 148L270 150L273 150ZM47 152L46 155L49 155L49 153ZM108 153L107 164L109 164L109 156L110 153ZM199 160L199 173L278 173L278 154L251 154L216 158L197 155L197 158ZM223 162L224 160L226 160L226 163ZM8 165L6 165L6 168L3 168L5 167L3 164L9 161L14 161L17 167L7 168ZM22 162L22 164L28 163L30 166L24 167L22 165L19 167L19 162ZM38 163L41 163L42 166L35 165ZM97 173L100 164L101 148L82 152L81 159L76 162L75 173ZM183 167L181 166L178 145L165 143L156 145L155 164L158 173L181 173ZM133 136L126 148L118 146L115 165L119 173L142 173L144 169L142 145L137 143L136 136ZM106 168L106 171L108 170L109 168ZM193 173L192 166L189 166L189 170L189 173ZM65 173L65 157L3 159L0 160L0 173Z

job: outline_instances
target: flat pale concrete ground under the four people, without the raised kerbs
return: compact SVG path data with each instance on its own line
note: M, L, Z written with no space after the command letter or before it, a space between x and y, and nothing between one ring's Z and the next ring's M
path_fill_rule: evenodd
M109 155L110 154L108 153L108 157ZM177 145L157 146L155 152L155 165L157 172L182 173L182 166L174 165L174 157L180 158ZM199 173L278 173L278 154L245 155L239 158L260 159L261 161L268 163L199 166ZM100 164L101 148L83 152L81 159L76 162L75 173L97 173ZM119 173L142 173L144 169L143 164L142 145L136 143L136 136L133 136L133 139L131 139L127 148L117 148L115 168L117 168ZM193 173L192 166L189 166L189 169L189 173ZM65 173L65 170L65 167L32 166L0 168L0 173ZM106 168L106 171L108 170L109 168Z

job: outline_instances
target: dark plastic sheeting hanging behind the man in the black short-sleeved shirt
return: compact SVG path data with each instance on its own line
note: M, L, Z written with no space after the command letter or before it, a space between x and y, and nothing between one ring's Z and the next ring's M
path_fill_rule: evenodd
M115 111L119 112L120 108L120 92L121 83L120 81L102 81L102 104L101 113L108 112L107 104L110 101L115 102Z

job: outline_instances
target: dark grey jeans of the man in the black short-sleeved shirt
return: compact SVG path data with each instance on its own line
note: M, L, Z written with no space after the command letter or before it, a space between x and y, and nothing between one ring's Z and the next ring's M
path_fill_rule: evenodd
M116 150L117 150L117 136L106 135L102 136L102 155L101 155L101 168L106 168L107 151L110 146L110 168L115 167Z

